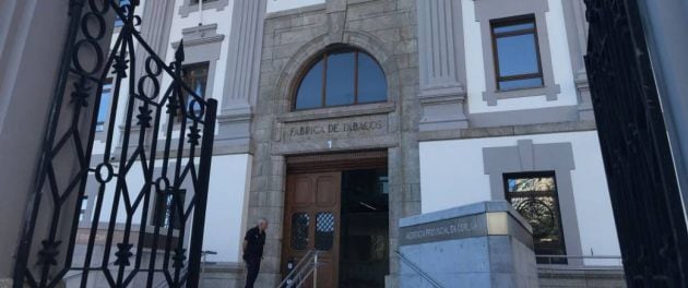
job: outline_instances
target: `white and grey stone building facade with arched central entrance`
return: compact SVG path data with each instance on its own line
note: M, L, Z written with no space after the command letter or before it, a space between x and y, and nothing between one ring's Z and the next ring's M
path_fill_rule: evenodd
M331 286L347 287L345 276L358 273L348 267L363 262L347 259L353 252L346 249L367 241L366 255L380 254L375 259L383 266L370 269L370 286L398 287L400 218L511 200L512 183L545 179L556 183L544 196L550 217L545 220L559 250L541 253L541 285L622 286L582 61L582 1L163 2L142 1L142 29L169 61L183 40L186 63L203 68L204 97L220 101L204 238L204 250L217 254L207 256L214 264L206 265L205 285L241 287L242 235L265 218L260 287L283 279L288 261L300 255L294 243L317 249L318 237L328 235L334 251L325 259ZM503 56L496 51L495 29L505 21L532 23L538 85L498 87ZM323 103L300 109L297 97L307 75L321 59L342 51L354 55L356 69L360 57L379 67L383 100L327 105L322 84ZM100 143L96 135L96 157ZM357 171L377 173L373 184L387 203L349 196L352 187L367 179ZM95 194L90 195L84 228L96 220ZM349 202L381 212L370 216L379 227L360 224L359 215L347 212ZM329 206L319 206L323 203ZM321 216L332 217L333 226L321 227ZM347 238L343 227L383 233Z

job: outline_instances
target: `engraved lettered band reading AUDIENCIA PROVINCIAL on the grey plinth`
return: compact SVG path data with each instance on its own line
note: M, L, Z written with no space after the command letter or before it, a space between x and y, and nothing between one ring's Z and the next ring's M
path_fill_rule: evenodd
M400 228L400 245L439 242L487 235L485 214L442 219Z

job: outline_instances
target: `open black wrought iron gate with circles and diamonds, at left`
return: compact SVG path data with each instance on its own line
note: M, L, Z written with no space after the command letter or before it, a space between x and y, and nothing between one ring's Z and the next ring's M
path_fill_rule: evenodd
M138 0L61 1L69 34L14 287L68 278L80 287L198 287L217 103L185 85L183 44L166 64L142 38ZM115 15L122 26L108 52ZM104 153L92 158L106 82L112 105L98 132ZM80 220L87 185L95 206Z

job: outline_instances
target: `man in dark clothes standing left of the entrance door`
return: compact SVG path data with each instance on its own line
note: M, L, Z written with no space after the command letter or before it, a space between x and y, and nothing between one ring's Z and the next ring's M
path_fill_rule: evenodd
M268 229L268 220L260 219L258 225L246 231L246 237L244 237L244 261L248 269L246 288L253 288L253 283L258 277L260 261L263 259L263 247L265 245L265 229Z

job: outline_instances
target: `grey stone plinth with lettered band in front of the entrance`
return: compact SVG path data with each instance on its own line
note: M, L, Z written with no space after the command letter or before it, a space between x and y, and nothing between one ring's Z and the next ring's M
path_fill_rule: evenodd
M538 287L532 228L512 207L483 202L400 220L400 287ZM405 261L404 261L405 260Z

